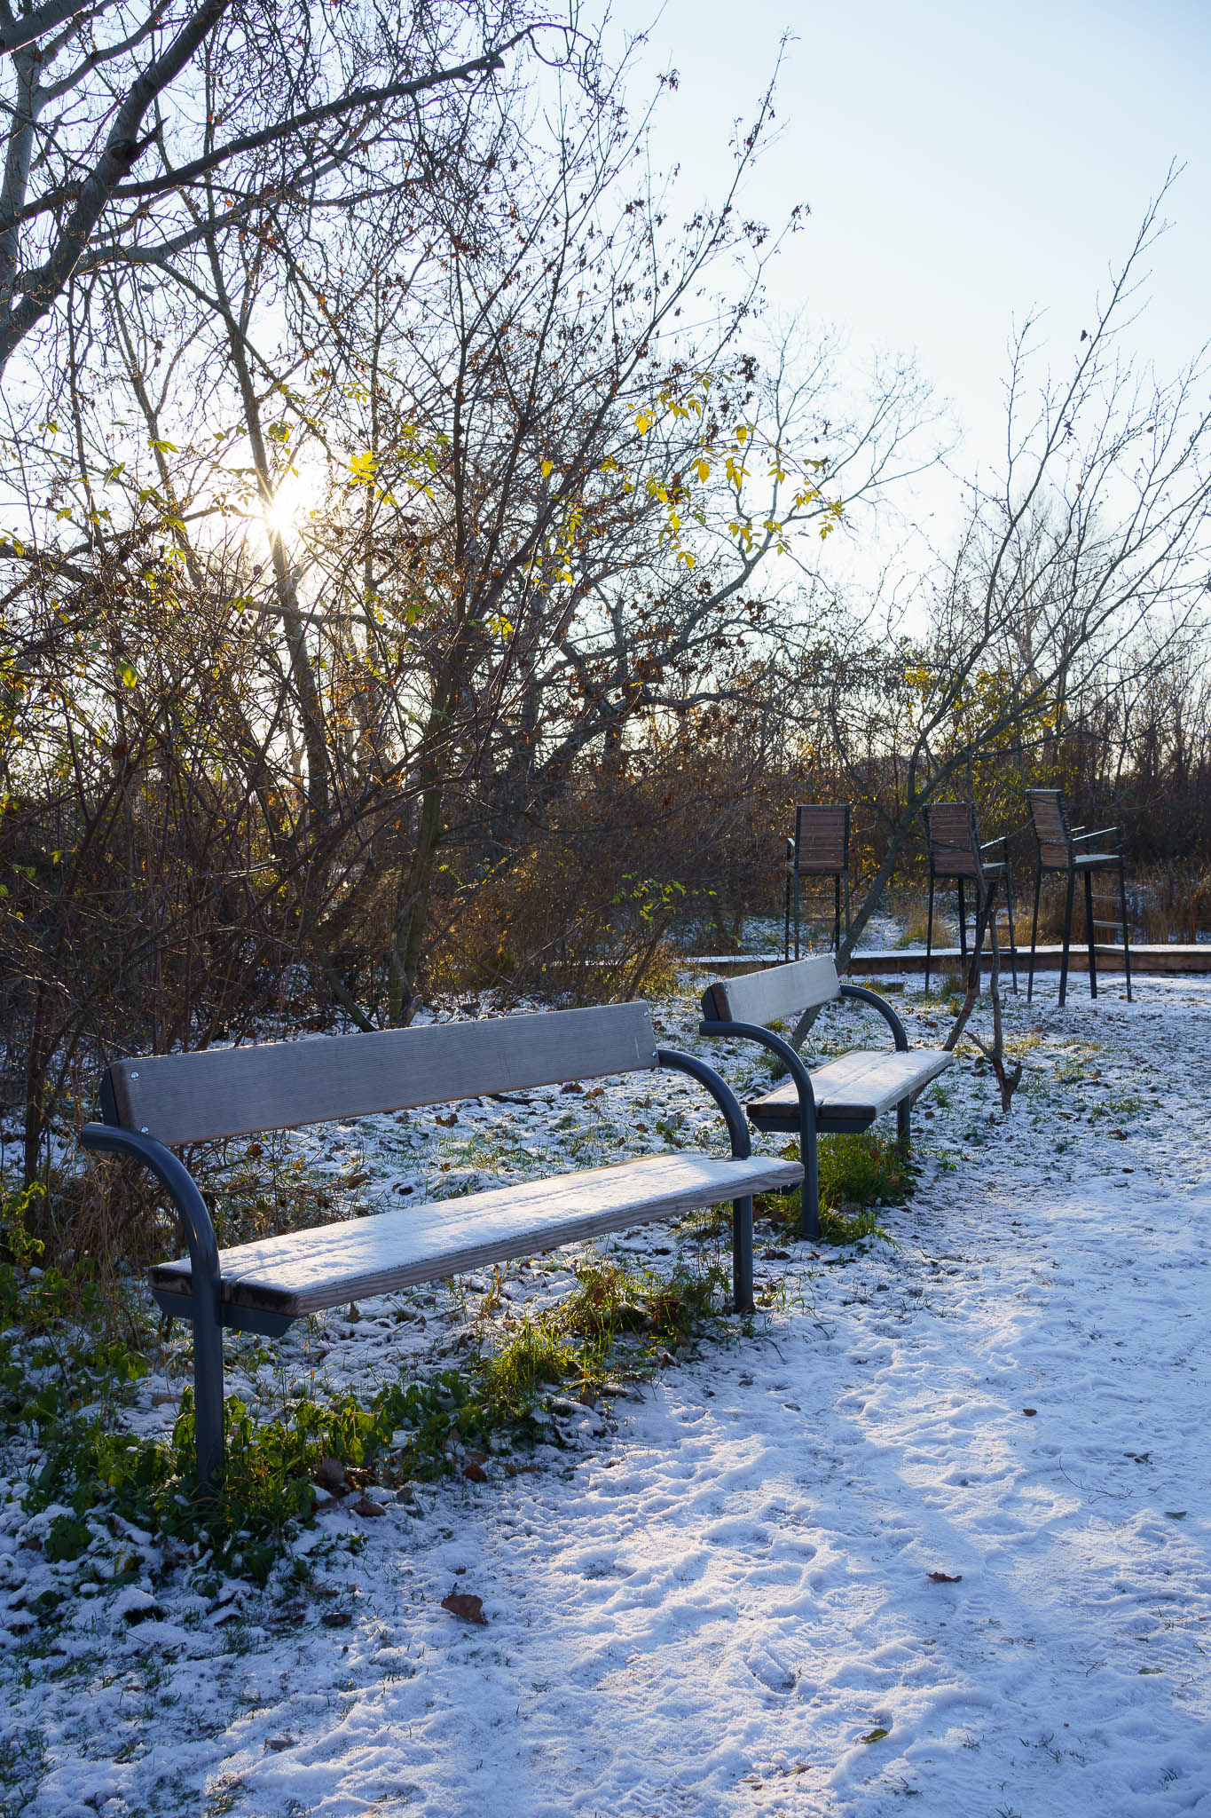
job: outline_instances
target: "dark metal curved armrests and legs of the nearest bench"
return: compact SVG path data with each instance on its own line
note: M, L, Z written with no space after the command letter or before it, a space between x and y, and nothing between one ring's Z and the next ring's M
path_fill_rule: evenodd
M643 1009L646 1005L617 1005L615 1009ZM556 1013L537 1013L530 1016L510 1016L510 1018L490 1018L483 1024L465 1024L458 1025L474 1033L476 1029L499 1029L501 1024L512 1024L517 1029L521 1042L532 1031L525 1029L528 1022L543 1022L545 1016L577 1016L586 1013L577 1011L556 1011ZM450 1025L443 1025L450 1027ZM421 1036L427 1031L418 1031ZM536 1031L534 1031L536 1033ZM407 1040L410 1031L392 1031L390 1034ZM329 1038L345 1044L361 1044L381 1040L381 1034L365 1036L345 1036ZM472 1034L474 1040L474 1034ZM272 1044L276 1049L310 1049L314 1044ZM205 1060L212 1064L223 1056L247 1056L254 1049L223 1049L223 1051L200 1051L196 1054L172 1056L174 1062L198 1062ZM260 1049L263 1053L263 1047ZM748 1160L752 1156L752 1142L748 1133L748 1122L744 1111L735 1096L735 1093L726 1085L719 1074L694 1054L681 1054L674 1049L654 1047L650 1049L652 1060L639 1060L634 1064L623 1064L614 1067L597 1067L597 1076L608 1076L610 1073L630 1073L666 1067L675 1073L688 1074L699 1085L703 1085L710 1096L715 1100L723 1120L728 1129L728 1138L732 1145L733 1160ZM151 1062L160 1062L163 1056L153 1056ZM211 1069L212 1071L212 1069ZM541 1067L536 1069L536 1078L527 1078L521 1071L510 1082L514 1087L525 1089L527 1085L556 1085L570 1078L588 1078L594 1074L594 1067L588 1065L583 1071L568 1067L563 1073L552 1076L548 1071L543 1073ZM129 1156L140 1162L160 1185L165 1189L172 1207L176 1211L180 1229L183 1233L189 1264L191 1264L191 1294L185 1298L182 1294L165 1293L153 1287L153 1294L160 1307L178 1318L192 1320L194 1327L194 1422L196 1422L196 1462L198 1462L198 1489L209 1493L222 1483L223 1478L223 1331L252 1331L265 1336L280 1336L294 1324L298 1314L274 1313L265 1307L236 1305L223 1298L223 1278L222 1278L222 1258L220 1247L214 1234L214 1225L207 1204L198 1191L198 1184L191 1176L185 1164L172 1153L172 1149L160 1142L147 1127L131 1127L123 1122L118 1104L122 1094L123 1080L140 1080L140 1062L118 1062L109 1067L102 1080L100 1100L102 1100L102 1124L85 1124L80 1133L80 1140L85 1149L98 1151L102 1154ZM127 1087L129 1091L129 1087ZM374 1111L396 1111L412 1109L423 1104L445 1104L450 1098L458 1098L458 1093L443 1093L434 1098L418 1098L416 1094L401 1096L394 1104L378 1104ZM483 1096L483 1089L467 1091L461 1096ZM314 1107L312 1107L314 1109ZM325 1122L323 1116L314 1116L312 1109L307 1114L298 1116L296 1124ZM329 1113L329 1118L340 1118L349 1113L347 1109L336 1107ZM254 1134L256 1131L283 1129L290 1127L289 1118L274 1118L272 1122L247 1122L240 1129L232 1131L214 1131L220 1134ZM189 1140L189 1138L180 1138ZM196 1140L203 1140L198 1136ZM574 1180L574 1174L568 1176ZM456 1202L458 1204L458 1202ZM710 1202L703 1202L710 1204ZM733 1311L752 1313L753 1307L753 1202L752 1193L732 1200L732 1287L733 1287ZM325 1227L327 1229L327 1227ZM536 1233L536 1249L543 1249L543 1234ZM546 1245L556 1247L556 1245ZM514 1251L516 1254L516 1251ZM434 1271L428 1280L436 1280L438 1271ZM338 1304L338 1302L332 1302Z

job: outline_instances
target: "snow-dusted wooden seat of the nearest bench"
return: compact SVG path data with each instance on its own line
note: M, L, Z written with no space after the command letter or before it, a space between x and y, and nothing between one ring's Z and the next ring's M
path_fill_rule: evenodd
M223 1298L287 1316L320 1313L801 1180L797 1162L768 1156L654 1154L614 1162L241 1244L220 1253ZM151 1285L189 1294L189 1262L160 1264Z

